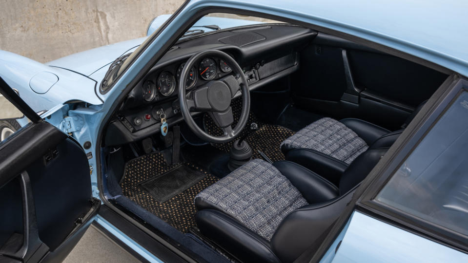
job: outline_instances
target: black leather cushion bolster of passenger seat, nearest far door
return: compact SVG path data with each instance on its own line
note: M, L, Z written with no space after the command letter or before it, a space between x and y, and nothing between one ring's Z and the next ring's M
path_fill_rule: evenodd
M356 134L358 134L358 136L361 137L367 145L373 144L379 137L390 132L387 129L361 119L346 118L340 120L340 122L356 132Z

